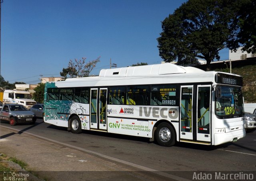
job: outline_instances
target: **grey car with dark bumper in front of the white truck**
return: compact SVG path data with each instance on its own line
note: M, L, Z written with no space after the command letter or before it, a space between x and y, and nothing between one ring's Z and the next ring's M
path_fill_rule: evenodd
M0 120L9 121L12 126L20 122L35 124L36 114L21 104L4 104L0 111Z

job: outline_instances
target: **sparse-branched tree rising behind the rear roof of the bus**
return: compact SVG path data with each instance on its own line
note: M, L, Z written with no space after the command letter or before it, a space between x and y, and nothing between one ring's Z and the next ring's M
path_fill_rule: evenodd
M63 68L60 75L62 77L73 78L73 77L88 77L90 72L96 64L100 61L100 57L95 60L89 61L86 63L86 58L82 57L82 60L74 59L74 61L70 60L68 63L68 68Z

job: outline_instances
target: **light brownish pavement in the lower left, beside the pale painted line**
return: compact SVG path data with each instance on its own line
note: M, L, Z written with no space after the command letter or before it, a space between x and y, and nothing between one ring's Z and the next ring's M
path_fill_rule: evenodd
M152 172L86 153L62 144L56 144L0 126L0 153L16 157L28 164L32 171L26 180L162 180ZM19 172L20 171L20 172ZM24 170L14 176L24 176ZM7 174L7 173L5 173ZM19 175L20 174L20 175ZM36 175L36 177L32 177ZM0 176L0 177L3 177ZM0 180L3 178L0 178ZM168 178L168 180L174 180Z

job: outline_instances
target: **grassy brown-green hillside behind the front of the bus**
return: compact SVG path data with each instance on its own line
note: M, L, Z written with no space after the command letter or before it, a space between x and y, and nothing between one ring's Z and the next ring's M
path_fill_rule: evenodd
M229 72L229 69L216 69L215 71ZM243 94L245 103L256 102L256 65L232 68L232 73L243 77Z

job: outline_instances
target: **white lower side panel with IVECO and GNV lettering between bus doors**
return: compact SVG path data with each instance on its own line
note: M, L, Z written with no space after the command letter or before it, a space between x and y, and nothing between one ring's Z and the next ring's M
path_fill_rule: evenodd
M108 132L152 138L157 120L175 121L178 132L178 107L108 105Z

